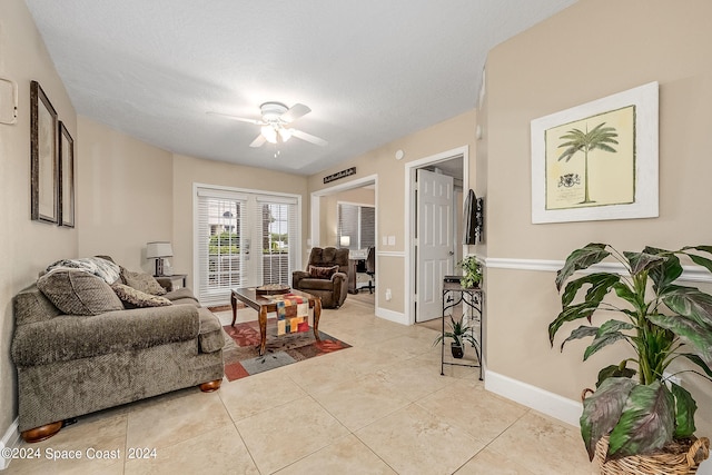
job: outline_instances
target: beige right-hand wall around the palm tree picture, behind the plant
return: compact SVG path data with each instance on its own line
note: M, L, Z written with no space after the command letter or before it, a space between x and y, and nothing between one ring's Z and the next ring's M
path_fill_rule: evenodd
M477 152L487 191L481 251L563 260L590 241L622 250L710 243L710 18L708 0L581 0L491 51ZM660 217L532 225L531 120L650 81L660 82ZM617 362L603 352L582 364L581 345L563 355L548 347L546 328L560 308L553 283L550 271L487 270L487 365L577 399L603 362ZM706 420L709 434L712 390L701 387L698 423Z

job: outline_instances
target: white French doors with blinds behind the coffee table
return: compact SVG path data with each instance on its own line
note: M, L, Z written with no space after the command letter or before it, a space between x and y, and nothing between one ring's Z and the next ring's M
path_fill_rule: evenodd
M200 303L226 304L237 287L290 285L299 251L298 208L296 197L198 188Z

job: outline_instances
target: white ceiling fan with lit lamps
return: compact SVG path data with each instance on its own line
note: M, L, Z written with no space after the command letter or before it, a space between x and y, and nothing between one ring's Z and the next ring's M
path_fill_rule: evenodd
M278 144L286 142L291 137L308 141L309 144L325 147L328 142L319 137L304 132L301 130L287 127L298 118L306 116L312 111L307 106L303 103L295 103L291 108L288 108L281 102L265 102L259 106L261 111L261 119L247 119L244 117L230 116L228 113L208 112L211 116L226 117L231 120L240 122L254 123L260 126L260 133L249 145L253 148L261 147L265 142Z

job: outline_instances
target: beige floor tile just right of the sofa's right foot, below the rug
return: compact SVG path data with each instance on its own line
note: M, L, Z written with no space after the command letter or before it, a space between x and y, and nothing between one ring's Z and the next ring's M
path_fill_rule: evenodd
M271 370L224 384L218 392L233 420L281 406L305 396L284 372Z

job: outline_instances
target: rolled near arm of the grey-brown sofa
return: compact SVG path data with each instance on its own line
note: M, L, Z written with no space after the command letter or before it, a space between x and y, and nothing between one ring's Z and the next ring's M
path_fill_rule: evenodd
M199 329L198 308L190 305L121 309L88 317L60 315L49 321L18 326L12 360L19 367L28 367L138 352L176 342L197 342ZM195 348L197 354L197 344Z

